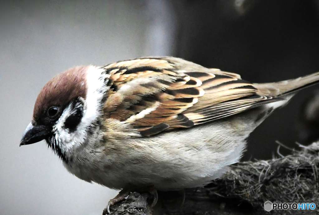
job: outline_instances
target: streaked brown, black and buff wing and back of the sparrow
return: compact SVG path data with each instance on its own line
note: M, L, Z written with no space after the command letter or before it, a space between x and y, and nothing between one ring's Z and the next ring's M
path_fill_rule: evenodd
M272 102L272 97L259 95L252 83L237 74L190 62L188 69L187 61L181 60L181 67L178 60L142 58L105 66L111 89L104 113L150 136Z

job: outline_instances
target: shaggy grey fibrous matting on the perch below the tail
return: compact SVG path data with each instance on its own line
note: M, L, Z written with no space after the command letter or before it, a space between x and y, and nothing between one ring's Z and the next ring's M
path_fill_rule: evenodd
M281 156L278 152L280 158L230 166L223 177L207 186L209 195L246 201L256 211L263 211L266 201L315 203L319 213L319 142L301 147L301 151L292 149L292 155Z

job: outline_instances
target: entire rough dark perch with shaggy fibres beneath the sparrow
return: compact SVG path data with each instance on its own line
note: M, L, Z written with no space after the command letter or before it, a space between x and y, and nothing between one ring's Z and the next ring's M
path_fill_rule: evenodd
M292 155L281 156L278 152L279 158L231 165L211 184L187 189L185 201L178 193L160 192L160 204L153 211L146 201L152 196L132 193L127 200L111 207L111 213L256 215L265 214L264 203L271 201L316 204L314 211L282 210L271 214L319 214L319 142L301 147L300 151L292 150Z

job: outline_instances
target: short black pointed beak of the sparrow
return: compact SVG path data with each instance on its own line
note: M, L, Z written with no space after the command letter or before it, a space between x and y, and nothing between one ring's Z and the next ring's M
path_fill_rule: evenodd
M40 142L50 135L50 129L44 125L28 125L22 135L20 146Z

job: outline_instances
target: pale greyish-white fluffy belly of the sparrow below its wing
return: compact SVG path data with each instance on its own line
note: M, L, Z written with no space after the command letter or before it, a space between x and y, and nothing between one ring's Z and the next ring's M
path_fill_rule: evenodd
M100 155L100 160L66 164L66 168L85 181L114 189L130 185L154 185L158 190L201 186L240 159L245 139L252 130L244 122L234 123L234 120L239 119L142 140L132 138L119 142L114 147L117 151Z

